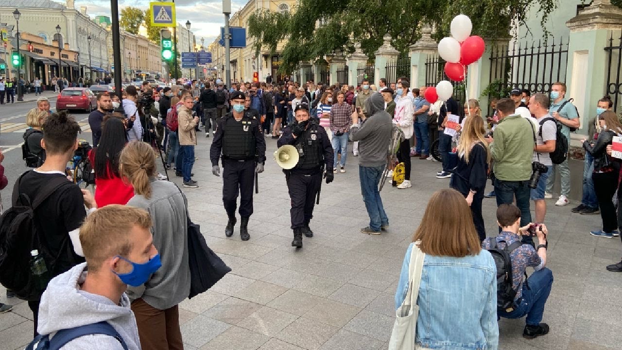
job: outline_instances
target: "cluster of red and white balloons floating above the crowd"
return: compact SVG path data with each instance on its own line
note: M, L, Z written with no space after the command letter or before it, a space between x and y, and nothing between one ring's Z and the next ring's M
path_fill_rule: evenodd
M460 14L453 17L451 37L444 37L439 42L439 55L446 61L445 75L451 80L462 82L466 75L466 66L476 62L484 54L484 40L477 35L471 35L471 19ZM447 80L439 82L436 87L425 89L424 97L434 103L437 100L447 101L452 96L453 86Z

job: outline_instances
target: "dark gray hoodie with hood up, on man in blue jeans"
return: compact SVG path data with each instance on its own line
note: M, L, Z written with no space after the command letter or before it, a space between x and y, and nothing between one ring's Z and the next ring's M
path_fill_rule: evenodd
M352 126L350 140L360 141L358 152L361 166L384 166L387 163L387 149L391 143L391 115L384 111L384 98L373 92L365 101L366 115L371 115L360 126Z

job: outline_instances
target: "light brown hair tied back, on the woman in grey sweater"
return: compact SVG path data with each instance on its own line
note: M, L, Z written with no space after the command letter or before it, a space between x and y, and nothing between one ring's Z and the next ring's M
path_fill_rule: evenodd
M151 198L151 177L156 175L156 152L142 141L128 143L119 156L119 173L134 187L134 193Z

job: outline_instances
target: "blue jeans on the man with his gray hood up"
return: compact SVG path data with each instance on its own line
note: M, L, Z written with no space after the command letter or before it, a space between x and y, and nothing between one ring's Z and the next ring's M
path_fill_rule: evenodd
M341 154L343 156L343 153ZM369 215L369 227L379 231L381 225L388 225L389 218L384 212L383 200L378 191L380 178L383 176L384 166L358 166L358 176L361 181L361 194Z

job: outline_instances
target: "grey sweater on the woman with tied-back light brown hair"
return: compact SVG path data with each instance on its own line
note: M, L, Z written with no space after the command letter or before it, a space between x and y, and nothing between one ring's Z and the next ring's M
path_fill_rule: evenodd
M185 196L174 183L152 179L151 198L136 194L128 206L146 209L151 214L154 245L162 260L162 267L145 285L128 286L128 296L132 301L142 298L159 310L168 309L190 294Z

